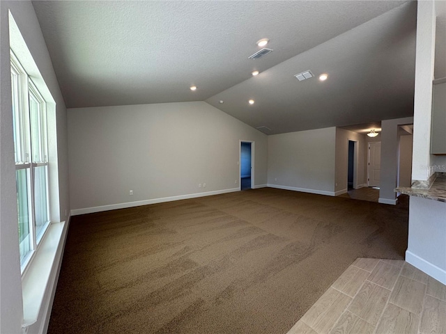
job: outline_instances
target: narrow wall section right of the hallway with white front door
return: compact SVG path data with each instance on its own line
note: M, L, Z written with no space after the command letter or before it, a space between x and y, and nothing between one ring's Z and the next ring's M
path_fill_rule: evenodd
M397 193L394 189L397 188L398 182L398 127L412 123L413 117L381 121L380 203L397 204Z

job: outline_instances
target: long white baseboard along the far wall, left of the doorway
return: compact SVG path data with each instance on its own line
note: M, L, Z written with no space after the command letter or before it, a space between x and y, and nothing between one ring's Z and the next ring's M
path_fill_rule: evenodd
M207 191L205 193L189 193L187 195L171 196L164 198L153 198L152 200L138 200L136 202L126 202L118 203L112 205L101 205L100 207L86 207L84 209L72 209L72 216L77 216L78 214L92 214L93 212L102 212L116 209L125 209L128 207L139 207L141 205L156 204L162 202L171 202L174 200L187 200L190 198L199 198L204 196L220 195L221 193L232 193L233 191L240 191L240 188L223 189L217 191Z

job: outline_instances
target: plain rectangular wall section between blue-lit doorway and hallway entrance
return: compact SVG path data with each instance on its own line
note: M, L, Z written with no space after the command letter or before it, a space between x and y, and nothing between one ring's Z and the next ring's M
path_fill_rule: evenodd
M336 128L268 136L268 186L334 195Z

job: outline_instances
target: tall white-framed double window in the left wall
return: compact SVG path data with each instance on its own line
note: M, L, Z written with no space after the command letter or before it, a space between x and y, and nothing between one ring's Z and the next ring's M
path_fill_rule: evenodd
M47 112L11 51L15 180L22 272L49 225Z

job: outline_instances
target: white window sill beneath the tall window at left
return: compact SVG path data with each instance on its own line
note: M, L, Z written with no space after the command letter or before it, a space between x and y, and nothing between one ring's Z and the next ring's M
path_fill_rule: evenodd
M40 247L22 279L23 328L31 326L38 320L45 292L52 289L56 282L67 225L65 221L49 225L45 237L43 237ZM54 264L56 264L55 267Z

